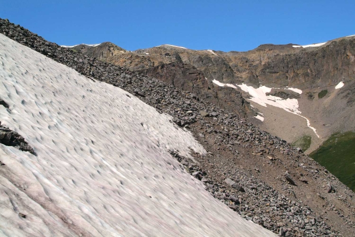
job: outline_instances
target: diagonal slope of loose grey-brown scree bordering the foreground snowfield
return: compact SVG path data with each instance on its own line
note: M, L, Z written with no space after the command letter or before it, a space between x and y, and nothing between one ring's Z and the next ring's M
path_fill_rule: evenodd
M285 236L355 235L354 193L286 141L191 92L61 48L6 20L0 32L171 115L209 153L193 154L195 161L172 155L242 217Z

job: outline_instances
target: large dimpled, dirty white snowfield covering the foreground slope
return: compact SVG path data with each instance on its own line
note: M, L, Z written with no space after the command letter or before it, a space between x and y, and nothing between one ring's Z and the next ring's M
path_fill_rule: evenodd
M0 235L275 236L215 200L168 150L205 153L132 94L0 34ZM25 218L24 218L25 217Z

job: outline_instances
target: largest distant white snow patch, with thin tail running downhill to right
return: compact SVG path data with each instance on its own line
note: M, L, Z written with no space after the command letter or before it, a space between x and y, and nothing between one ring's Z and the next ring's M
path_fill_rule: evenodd
M241 85L237 85L243 91L247 92L252 96L252 98L248 99L251 100L261 106L267 107L266 105L275 106L281 109L286 110L287 112L296 114L301 116L302 118L307 120L307 126L312 129L317 137L317 131L314 127L310 126L310 121L301 115L301 111L298 109L298 100L297 99L282 99L280 97L275 97L271 95L266 95L266 93L271 92L272 88L266 86L260 86L259 88L254 88L253 86L247 86L246 84L242 83ZM290 88L288 88L290 89ZM296 91L297 92L297 91Z

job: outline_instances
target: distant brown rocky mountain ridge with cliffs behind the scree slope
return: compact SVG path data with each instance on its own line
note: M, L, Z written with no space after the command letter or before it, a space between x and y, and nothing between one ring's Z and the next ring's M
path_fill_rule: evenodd
M257 115L256 112L266 114L269 119L263 123L259 122L260 127L290 143L304 135L310 135L312 146L308 153L334 132L355 129L352 106L355 36L306 48L296 44L263 44L248 52L196 51L173 45L128 52L120 48L115 49L113 44L111 45L101 53L106 57L97 57L93 49L88 51L87 47L82 45L74 49L90 57L172 83L239 115L251 117ZM252 110L244 100L250 94L239 87L235 91L226 87L218 88L212 83L214 79L225 84L245 83L254 87L265 85L303 90L298 100L299 107L302 115L308 118L312 127L318 131L319 137L311 129L303 129L306 127L306 121L298 121L299 118L293 115L287 116L287 123L281 122L281 126L287 127L288 132L278 129L280 123L274 122L275 116L272 114L282 114L280 110L265 109L253 103L256 109ZM335 85L340 81L345 83L345 87L340 93L334 92ZM325 89L330 93L325 99L318 100L317 94ZM290 123L290 119L293 122Z

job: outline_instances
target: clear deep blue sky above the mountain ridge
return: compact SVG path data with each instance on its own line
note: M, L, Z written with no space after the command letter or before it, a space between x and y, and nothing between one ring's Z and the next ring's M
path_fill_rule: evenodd
M174 44L247 51L355 34L355 1L17 1L0 17L60 45L111 41L126 50Z

